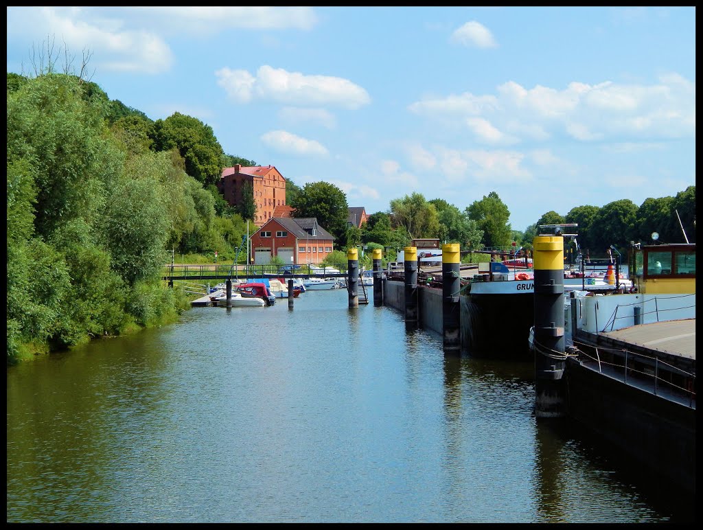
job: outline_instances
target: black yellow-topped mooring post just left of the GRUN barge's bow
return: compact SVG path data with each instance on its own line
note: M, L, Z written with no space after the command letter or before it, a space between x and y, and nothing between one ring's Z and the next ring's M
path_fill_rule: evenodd
M441 251L441 328L444 353L459 354L461 351L459 273L459 244L442 245Z

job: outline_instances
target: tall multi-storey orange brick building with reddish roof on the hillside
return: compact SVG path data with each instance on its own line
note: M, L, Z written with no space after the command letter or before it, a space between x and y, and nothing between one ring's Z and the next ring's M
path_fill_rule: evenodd
M273 218L273 209L285 205L285 179L276 167L241 166L226 167L217 183L217 189L231 206L240 204L245 182L252 185L254 193L254 224L262 226Z

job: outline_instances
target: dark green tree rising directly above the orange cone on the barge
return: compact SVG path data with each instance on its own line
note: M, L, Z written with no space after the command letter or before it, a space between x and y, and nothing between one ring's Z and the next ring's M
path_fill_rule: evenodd
M595 245L591 257L605 255L610 245L624 248L633 238L638 207L629 199L609 202L598 212L593 221L591 235Z

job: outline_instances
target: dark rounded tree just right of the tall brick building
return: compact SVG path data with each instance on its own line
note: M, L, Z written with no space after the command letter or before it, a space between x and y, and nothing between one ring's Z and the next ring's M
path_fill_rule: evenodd
M294 208L293 216L316 217L326 231L339 240L344 239L349 206L347 195L334 184L324 181L307 183L290 206Z

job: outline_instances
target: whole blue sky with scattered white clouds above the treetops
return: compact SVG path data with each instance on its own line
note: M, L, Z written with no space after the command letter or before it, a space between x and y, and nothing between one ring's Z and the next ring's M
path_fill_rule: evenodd
M8 7L7 70L67 47L110 99L385 212L550 210L695 184L695 7ZM63 62L59 61L60 65Z

